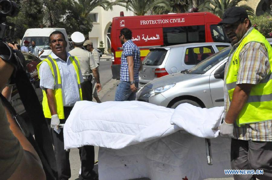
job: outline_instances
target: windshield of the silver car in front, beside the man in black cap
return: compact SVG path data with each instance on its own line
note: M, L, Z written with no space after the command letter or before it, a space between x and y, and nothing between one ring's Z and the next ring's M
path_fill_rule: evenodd
M195 65L193 68L188 70L189 74L204 74L214 65L219 63L228 57L229 52L231 51L231 47L225 48L222 51L219 51L210 57L206 58L202 62Z

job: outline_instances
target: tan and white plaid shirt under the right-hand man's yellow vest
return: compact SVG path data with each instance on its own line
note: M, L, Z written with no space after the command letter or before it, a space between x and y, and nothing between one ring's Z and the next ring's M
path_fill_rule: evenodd
M232 59L233 52L237 49L239 44L242 42L245 36L251 32L253 27L251 27L243 38L232 47L232 51L228 58L228 62L225 68L225 74L228 71L230 60ZM258 84L262 79L264 79L270 71L270 64L268 60L268 53L265 47L257 42L251 42L246 44L239 54L240 58L240 67L237 75L236 84ZM226 76L225 76L226 78ZM224 82L225 79L224 79ZM230 101L228 96L228 90L226 84L224 83L224 110L225 115L228 112ZM251 123L241 125L238 127L234 123L234 132L235 139L246 140L246 141L272 141L272 120Z

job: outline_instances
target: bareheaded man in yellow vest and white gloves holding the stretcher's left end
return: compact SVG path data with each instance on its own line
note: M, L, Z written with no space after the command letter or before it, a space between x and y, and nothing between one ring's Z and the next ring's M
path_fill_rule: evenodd
M80 84L83 77L79 61L66 52L67 42L60 31L49 36L52 53L37 65L40 87L43 91L43 111L51 131L59 180L71 177L69 151L64 150L64 124L76 101L82 100Z

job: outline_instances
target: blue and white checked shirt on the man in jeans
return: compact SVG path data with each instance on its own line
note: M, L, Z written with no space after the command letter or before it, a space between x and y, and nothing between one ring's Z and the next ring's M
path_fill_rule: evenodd
M123 44L123 52L121 55L121 69L120 69L120 81L129 82L128 74L128 61L127 56L133 56L134 61L134 82L139 81L139 68L140 68L140 49L136 46L132 40L128 40Z

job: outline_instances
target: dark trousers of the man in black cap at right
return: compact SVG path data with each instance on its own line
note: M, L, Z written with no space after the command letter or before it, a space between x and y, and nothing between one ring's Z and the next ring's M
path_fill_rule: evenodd
M233 175L235 180L272 179L272 142L232 139L231 167L264 170L263 175Z

